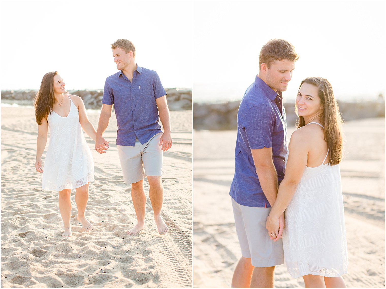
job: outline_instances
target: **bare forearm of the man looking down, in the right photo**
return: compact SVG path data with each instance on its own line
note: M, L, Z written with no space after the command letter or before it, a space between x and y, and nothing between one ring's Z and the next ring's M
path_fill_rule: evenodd
M256 173L264 195L269 204L273 206L278 194L278 174L274 165L256 168Z

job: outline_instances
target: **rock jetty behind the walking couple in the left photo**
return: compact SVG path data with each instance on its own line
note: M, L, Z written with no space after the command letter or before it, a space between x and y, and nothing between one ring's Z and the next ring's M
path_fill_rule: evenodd
M36 90L1 91L1 101L16 103L18 105L33 105ZM70 90L69 94L78 95L85 103L86 109L100 109L102 106L103 90ZM193 106L193 93L189 88L166 88L166 100L170 110L191 110Z

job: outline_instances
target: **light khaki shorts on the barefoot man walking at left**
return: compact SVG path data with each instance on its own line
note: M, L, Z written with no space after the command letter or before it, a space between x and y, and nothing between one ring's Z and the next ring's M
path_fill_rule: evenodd
M117 145L119 160L126 184L137 183L145 176L162 176L163 151L159 140L162 132L154 135L145 144L135 139L134 147Z

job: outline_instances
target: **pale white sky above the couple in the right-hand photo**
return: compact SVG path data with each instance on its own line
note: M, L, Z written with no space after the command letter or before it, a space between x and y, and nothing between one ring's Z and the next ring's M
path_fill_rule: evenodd
M385 1L195 1L194 100L241 99L273 38L300 54L284 99L308 76L327 78L338 99L385 95L385 12Z

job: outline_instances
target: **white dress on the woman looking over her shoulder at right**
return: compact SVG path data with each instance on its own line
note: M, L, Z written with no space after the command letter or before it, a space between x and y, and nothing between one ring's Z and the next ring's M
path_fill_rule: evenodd
M327 155L320 166L305 168L285 211L284 261L294 278L308 274L338 277L347 273L340 170L339 165L323 165Z

